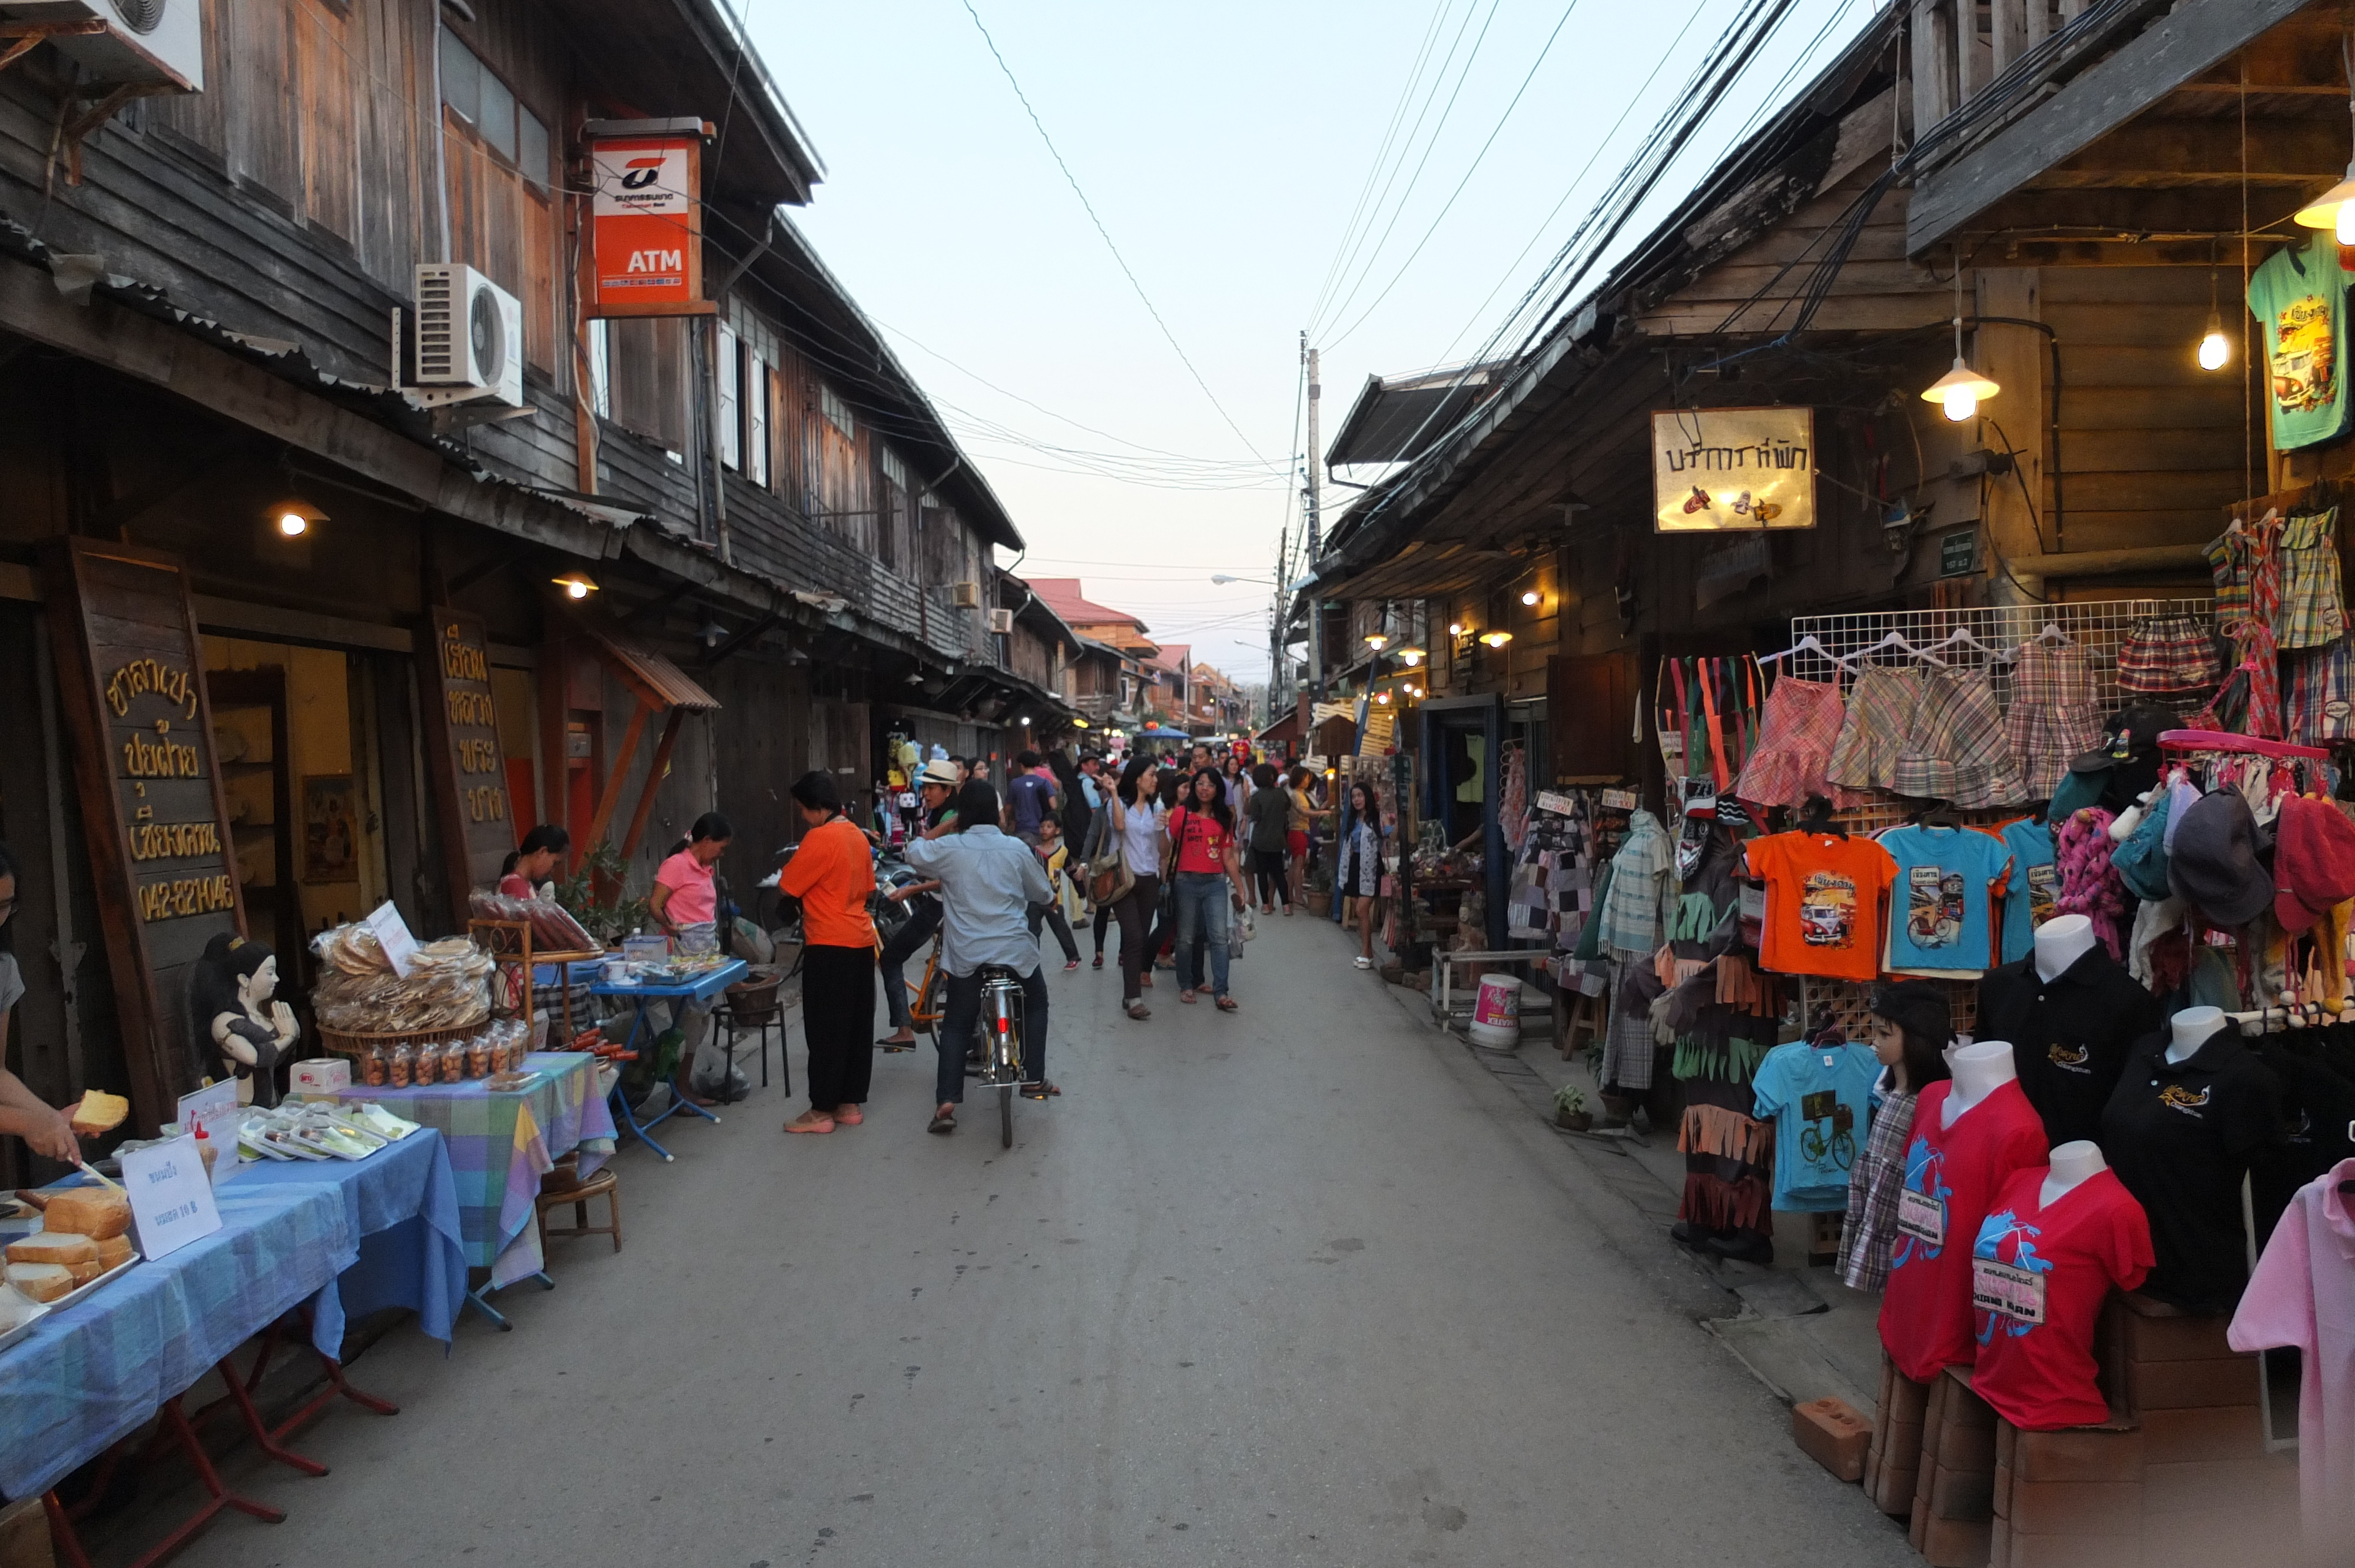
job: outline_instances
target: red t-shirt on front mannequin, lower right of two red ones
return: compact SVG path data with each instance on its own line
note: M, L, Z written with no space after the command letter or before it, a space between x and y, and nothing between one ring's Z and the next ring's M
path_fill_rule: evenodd
M2094 1172L2051 1208L2046 1175L2044 1165L2016 1170L1971 1248L1971 1387L2023 1431L2110 1420L2094 1387L2094 1318L2110 1285L2134 1290L2155 1262L2150 1220L2115 1172Z

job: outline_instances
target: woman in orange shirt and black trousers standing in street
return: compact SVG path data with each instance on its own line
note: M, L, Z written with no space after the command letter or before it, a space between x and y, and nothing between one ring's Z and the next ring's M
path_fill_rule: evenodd
M867 833L843 815L834 775L810 770L789 791L808 831L777 873L777 892L801 899L801 1036L810 1048L803 1078L810 1109L787 1132L831 1132L867 1121L867 1085L876 1052L876 928L867 899L876 890Z

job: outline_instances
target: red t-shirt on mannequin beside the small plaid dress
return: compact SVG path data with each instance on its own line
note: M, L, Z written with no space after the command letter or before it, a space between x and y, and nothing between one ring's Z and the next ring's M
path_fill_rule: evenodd
M1971 1241L2011 1172L2046 1158L2044 1123L2018 1078L1948 1128L1945 1099L1952 1092L1952 1081L1931 1083L1915 1102L1882 1295L1882 1347L1915 1382L1929 1382L1950 1366L1971 1366L1978 1356Z

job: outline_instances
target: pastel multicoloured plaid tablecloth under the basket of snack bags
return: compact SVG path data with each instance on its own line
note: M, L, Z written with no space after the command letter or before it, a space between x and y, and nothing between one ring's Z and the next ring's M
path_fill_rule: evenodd
M459 1241L471 1267L490 1269L492 1285L539 1271L532 1198L558 1156L579 1149L582 1175L589 1175L612 1154L612 1109L596 1085L596 1057L537 1050L523 1064L537 1078L506 1092L495 1092L483 1078L344 1090L346 1099L374 1099L450 1140Z

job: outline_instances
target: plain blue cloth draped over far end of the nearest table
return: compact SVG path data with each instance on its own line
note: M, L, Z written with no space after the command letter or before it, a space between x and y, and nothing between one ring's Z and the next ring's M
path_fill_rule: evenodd
M341 1194L360 1257L320 1288L311 1304L311 1342L341 1358L344 1318L407 1307L417 1328L450 1340L466 1300L466 1238L459 1234L450 1144L419 1128L365 1161L247 1165L226 1191L325 1187Z

